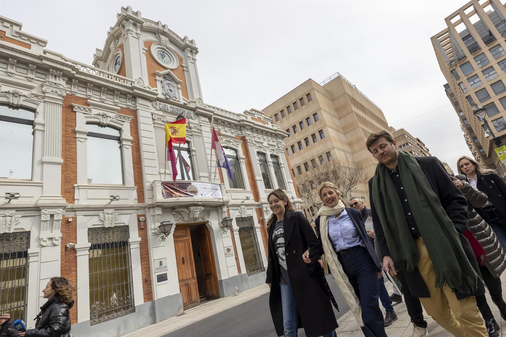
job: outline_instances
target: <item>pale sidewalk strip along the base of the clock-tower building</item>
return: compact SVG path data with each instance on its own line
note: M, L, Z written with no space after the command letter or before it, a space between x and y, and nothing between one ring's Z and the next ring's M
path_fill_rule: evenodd
M198 307L185 310L182 315L169 318L163 322L146 326L142 329L124 334L121 337L161 337L167 333L179 330L182 327L198 322L204 318L216 315L222 311L238 306L242 303L256 299L269 292L267 284L243 291L235 296L225 297L202 303Z

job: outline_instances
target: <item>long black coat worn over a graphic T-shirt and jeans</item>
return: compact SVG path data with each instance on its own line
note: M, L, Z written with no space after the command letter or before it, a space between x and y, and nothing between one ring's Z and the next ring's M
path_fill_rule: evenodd
M287 210L283 221L286 265L299 312L299 327L304 327L308 337L318 337L338 327L332 304L336 309L338 305L318 263L318 259L323 254L323 248L309 221L301 212ZM283 335L283 308L279 286L281 274L276 249L272 242L274 227L275 225L272 225L268 230L269 261L265 282L271 283L269 306L276 334L281 336ZM308 248L311 263L306 265L302 260L302 254Z

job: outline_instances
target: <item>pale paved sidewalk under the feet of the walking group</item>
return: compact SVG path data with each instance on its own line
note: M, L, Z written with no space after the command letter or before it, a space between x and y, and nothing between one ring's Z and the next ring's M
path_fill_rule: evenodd
M501 275L502 288L506 287L506 273ZM392 284L386 284L389 293L392 293ZM493 304L490 299L490 295L487 291L487 302L494 314L494 318L497 321L497 324L501 327L502 336L506 336L506 322L501 319L499 311L497 307ZM380 308L383 307L380 304ZM413 324L410 321L409 315L406 310L406 305L403 303L395 304L394 309L397 313L398 319L385 330L387 332L388 337L410 337L413 332ZM427 330L429 332L430 337L451 337L452 334L439 326L424 310L425 320L428 323ZM335 331L338 333L338 337L359 337L362 336L362 332L360 327L355 320L355 317L351 313L351 311L347 312L343 316L338 319L339 328ZM459 337L459 336L457 336Z

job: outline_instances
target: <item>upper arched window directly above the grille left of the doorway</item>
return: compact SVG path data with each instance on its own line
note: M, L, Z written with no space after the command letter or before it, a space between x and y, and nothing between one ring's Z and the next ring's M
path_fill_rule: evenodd
M118 129L86 124L88 184L123 184L123 160Z

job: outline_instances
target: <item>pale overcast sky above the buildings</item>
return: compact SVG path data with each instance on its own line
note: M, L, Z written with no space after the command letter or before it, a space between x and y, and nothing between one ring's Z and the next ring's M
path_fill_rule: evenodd
M339 71L390 125L419 137L455 171L470 151L430 37L466 3L3 0L0 15L47 39L48 49L91 64L116 13L130 5L195 39L204 102L236 112L262 109L308 78L320 82Z

